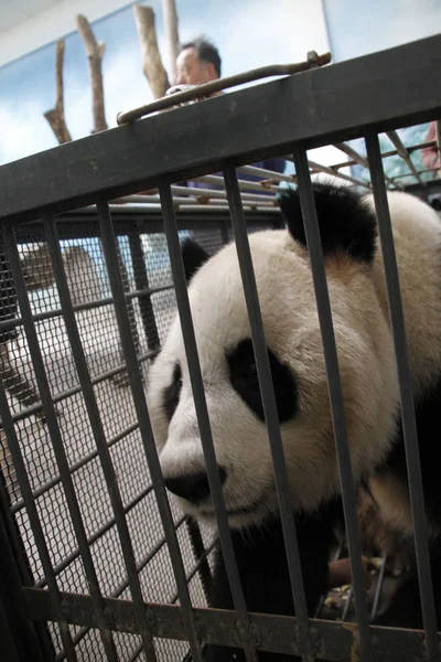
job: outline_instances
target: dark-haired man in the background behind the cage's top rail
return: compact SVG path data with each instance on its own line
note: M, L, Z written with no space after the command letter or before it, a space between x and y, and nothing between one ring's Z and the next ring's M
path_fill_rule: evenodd
M181 46L176 58L176 83L178 85L201 85L220 78L222 61L219 52L208 40L197 38ZM284 172L284 159L266 159L252 163L257 168ZM258 181L251 174L240 173L241 180ZM213 185L198 182L189 182L189 186L200 189L214 189Z

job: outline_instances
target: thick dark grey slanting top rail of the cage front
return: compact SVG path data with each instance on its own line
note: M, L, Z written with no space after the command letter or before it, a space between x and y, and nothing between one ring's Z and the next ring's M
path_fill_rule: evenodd
M0 218L34 220L155 188L164 178L184 181L222 170L228 159L245 166L288 153L299 140L311 149L362 137L366 126L384 131L427 121L441 113L433 85L440 66L435 35L61 145L0 167Z

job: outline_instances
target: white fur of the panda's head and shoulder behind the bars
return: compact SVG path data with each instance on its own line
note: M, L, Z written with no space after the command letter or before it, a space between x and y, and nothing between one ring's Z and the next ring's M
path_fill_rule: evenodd
M370 197L366 202L373 204ZM441 228L435 212L405 193L390 193L389 209L418 391L437 376L441 365L441 271L433 270ZM279 360L294 371L299 391L299 414L281 426L293 504L297 509L313 510L338 490L338 476L309 257L288 231L256 233L249 241L266 340ZM373 265L356 263L344 253L332 255L326 258L326 275L353 471L361 478L388 450L398 403L380 252L376 253ZM258 522L277 508L277 499L266 427L232 388L225 362L225 351L250 337L234 244L201 267L191 281L189 297L216 456L228 474L227 510L259 503L250 513L232 515L230 524ZM176 360L182 366L183 386L169 426L162 394ZM203 469L178 319L150 378L149 410L164 477ZM208 503L196 506L180 501L191 514L207 523L215 522Z

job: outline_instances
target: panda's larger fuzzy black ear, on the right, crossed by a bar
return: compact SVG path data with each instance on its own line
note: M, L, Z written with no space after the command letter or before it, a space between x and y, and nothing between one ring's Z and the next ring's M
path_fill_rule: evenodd
M348 186L315 182L312 188L323 254L345 252L353 259L372 261L377 222L363 197ZM286 189L278 200L290 234L306 246L299 191Z

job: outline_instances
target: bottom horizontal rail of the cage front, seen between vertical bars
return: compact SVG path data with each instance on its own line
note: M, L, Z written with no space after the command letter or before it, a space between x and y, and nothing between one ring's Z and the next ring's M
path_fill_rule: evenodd
M24 599L29 617L34 620L52 621L54 607L45 590L25 588ZM90 598L78 594L62 594L63 615L77 626L96 627L96 618L90 606ZM118 632L139 634L129 600L105 598L105 612L108 626ZM176 605L144 604L149 615L152 637L186 641L186 632L182 622L182 609ZM203 639L207 643L218 645L240 645L237 631L236 613L222 609L194 609L196 622ZM295 641L297 619L289 616L269 616L250 613L250 622L256 632L257 648L272 653L299 653ZM311 620L315 633L316 658L347 662L356 660L356 626L338 621ZM421 630L372 627L373 662L392 662L394 660L423 659L423 632Z

